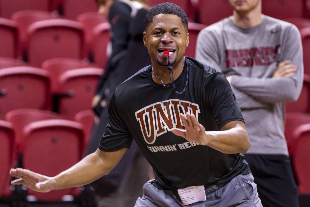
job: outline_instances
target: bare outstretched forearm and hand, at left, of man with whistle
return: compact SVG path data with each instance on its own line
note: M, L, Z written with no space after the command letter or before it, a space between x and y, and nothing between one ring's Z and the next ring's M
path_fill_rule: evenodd
M55 177L47 177L26 169L11 169L10 175L18 178L11 184L25 185L38 192L86 185L108 174L121 160L126 150L123 148L114 152L104 152L97 149Z

